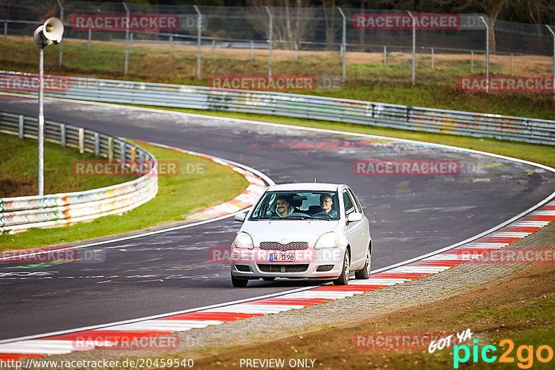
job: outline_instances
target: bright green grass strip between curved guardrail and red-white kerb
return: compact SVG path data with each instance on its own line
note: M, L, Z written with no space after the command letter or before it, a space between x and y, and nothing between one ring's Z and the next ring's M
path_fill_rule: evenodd
M159 177L156 197L123 215L110 215L69 227L0 235L0 250L69 243L185 220L195 211L232 199L248 186L239 173L208 159L138 144L153 153L158 161L179 161L180 166L201 163L206 168L205 173Z

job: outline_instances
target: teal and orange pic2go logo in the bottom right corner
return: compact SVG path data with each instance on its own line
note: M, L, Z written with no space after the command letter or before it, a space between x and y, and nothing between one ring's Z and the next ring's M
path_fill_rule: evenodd
M472 346L472 362L479 362L478 356L478 340L473 340L474 345ZM499 356L498 362L515 362L515 359L511 356L511 352L515 348L515 344L512 340L505 339L499 342L499 346L504 347L507 346L508 348L505 349L504 353ZM553 359L553 349L550 346L543 345L538 346L536 352L533 351L533 346L519 346L516 350L516 358L519 361L517 366L520 369L530 369L533 365L534 354L536 355L536 359L539 362L549 362ZM461 351L463 355L461 357ZM482 347L479 355L481 360L484 362L495 362L497 360L497 356L493 355L493 352L497 351L497 348L492 345L487 345ZM488 353L489 352L489 353ZM461 346L454 346L453 347L453 369L459 369L459 364L468 362L470 360L470 348L466 344Z

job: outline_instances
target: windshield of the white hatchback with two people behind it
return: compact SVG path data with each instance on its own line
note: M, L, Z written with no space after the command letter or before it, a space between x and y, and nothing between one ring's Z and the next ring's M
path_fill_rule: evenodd
M249 220L337 220L336 191L268 191Z

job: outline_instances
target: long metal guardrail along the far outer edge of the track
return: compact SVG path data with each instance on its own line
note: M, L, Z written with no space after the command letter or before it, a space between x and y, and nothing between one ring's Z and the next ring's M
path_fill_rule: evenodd
M35 75L0 71L0 90L22 90ZM273 114L402 130L555 144L555 121L277 92L65 77L48 96L109 103ZM48 80L48 78L46 78ZM17 83L14 83L17 82ZM31 91L32 92L32 91Z

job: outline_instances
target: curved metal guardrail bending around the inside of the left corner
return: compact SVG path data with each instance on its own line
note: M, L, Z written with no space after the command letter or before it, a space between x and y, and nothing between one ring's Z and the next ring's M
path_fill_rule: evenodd
M0 111L0 132L37 139L36 117ZM121 161L155 161L146 150L92 130L46 120L44 140ZM153 162L155 163L155 162ZM0 234L93 220L134 209L158 191L151 172L130 182L75 193L0 198Z

